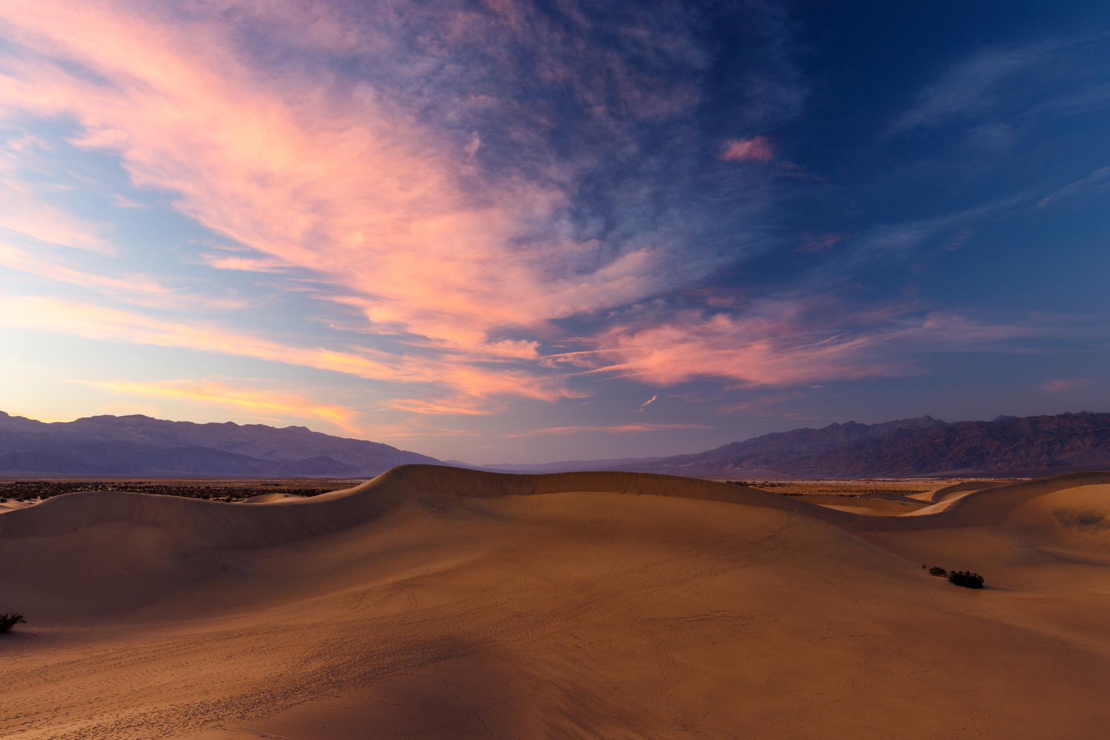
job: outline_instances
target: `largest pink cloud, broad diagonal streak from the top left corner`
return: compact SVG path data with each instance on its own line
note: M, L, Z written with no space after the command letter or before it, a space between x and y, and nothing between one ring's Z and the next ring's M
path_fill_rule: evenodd
M476 196L473 148L418 123L418 101L262 69L230 38L225 13L193 10L8 3L0 20L30 51L0 94L11 109L73 116L74 144L114 153L138 186L175 193L182 212L262 255L208 256L210 266L310 270L357 302L369 328L426 337L456 361L521 358L506 333L664 284L656 245L601 264L588 241L532 237L522 249L536 224L559 219L561 190L485 181ZM282 42L319 50L381 41L311 9L282 6L273 19ZM301 28L312 32L302 39ZM67 71L74 65L93 74Z

